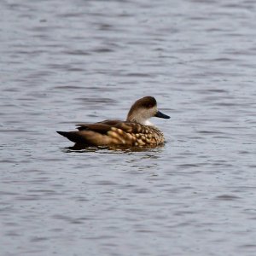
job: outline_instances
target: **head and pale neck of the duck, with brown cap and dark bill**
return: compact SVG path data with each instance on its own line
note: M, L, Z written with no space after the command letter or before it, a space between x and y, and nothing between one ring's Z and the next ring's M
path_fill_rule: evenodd
M170 119L170 116L161 113L157 109L157 103L154 97L146 96L135 102L127 115L126 121L137 122L142 125L152 125L148 119L158 117L162 119Z

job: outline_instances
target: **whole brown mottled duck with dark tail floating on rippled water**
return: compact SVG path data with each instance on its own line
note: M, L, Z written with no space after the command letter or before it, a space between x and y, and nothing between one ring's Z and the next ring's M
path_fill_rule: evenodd
M154 148L165 143L165 137L149 119L170 119L161 113L153 96L144 96L131 105L125 121L107 119L77 125L78 131L56 131L75 145L125 146Z

